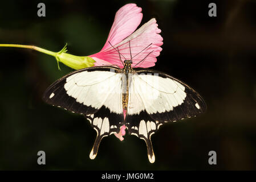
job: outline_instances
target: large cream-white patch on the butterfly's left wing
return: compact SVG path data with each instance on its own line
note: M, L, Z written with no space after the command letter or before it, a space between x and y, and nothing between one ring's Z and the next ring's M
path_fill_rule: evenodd
M66 78L64 89L76 102L99 109L107 107L111 112L121 114L121 73L108 71L79 72Z

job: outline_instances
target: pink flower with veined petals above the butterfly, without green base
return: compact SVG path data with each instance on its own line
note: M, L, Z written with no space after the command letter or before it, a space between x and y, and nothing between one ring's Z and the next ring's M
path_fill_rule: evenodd
M142 16L141 8L133 3L127 4L117 11L104 47L100 52L89 56L96 61L95 66L118 65L123 68L119 53L113 47L118 48L125 59L131 59L129 42L131 44L133 67L152 51L144 61L135 67L148 68L155 65L156 57L160 55L162 50L160 47L162 37L159 34L161 30L157 27L156 19L153 18L135 31L141 22ZM143 51L143 49L145 50ZM121 57L123 61L124 57Z

